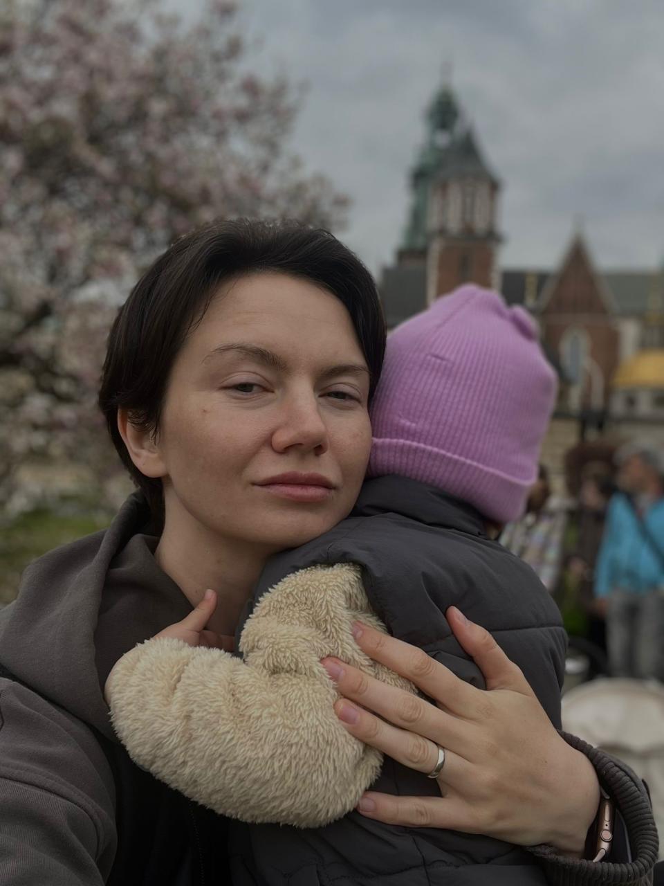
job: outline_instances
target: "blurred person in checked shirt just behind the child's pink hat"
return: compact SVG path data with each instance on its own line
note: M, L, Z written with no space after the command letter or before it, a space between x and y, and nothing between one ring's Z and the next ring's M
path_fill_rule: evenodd
M528 563L551 593L560 577L567 517L566 503L552 495L549 471L540 464L523 517L508 524L500 536L500 543Z

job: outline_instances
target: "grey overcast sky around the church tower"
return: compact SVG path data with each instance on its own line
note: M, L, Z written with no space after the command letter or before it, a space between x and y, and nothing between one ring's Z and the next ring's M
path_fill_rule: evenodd
M241 2L261 69L308 83L294 147L351 196L374 271L445 62L503 183L502 267L552 266L578 217L600 267L664 260L664 0Z

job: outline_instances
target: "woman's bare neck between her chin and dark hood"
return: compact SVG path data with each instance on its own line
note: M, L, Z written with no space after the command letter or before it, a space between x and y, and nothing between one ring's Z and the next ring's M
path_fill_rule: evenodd
M155 559L159 568L197 606L208 587L217 592L217 609L210 630L234 634L245 602L273 551L205 533L201 525L166 526Z

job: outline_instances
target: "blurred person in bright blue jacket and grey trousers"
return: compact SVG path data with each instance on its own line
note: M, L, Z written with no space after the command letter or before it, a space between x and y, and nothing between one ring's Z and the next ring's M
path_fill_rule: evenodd
M595 573L609 664L616 677L664 680L664 454L637 441L616 462Z

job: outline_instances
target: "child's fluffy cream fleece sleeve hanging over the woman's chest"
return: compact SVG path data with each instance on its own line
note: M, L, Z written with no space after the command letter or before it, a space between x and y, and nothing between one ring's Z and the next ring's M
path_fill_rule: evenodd
M315 566L264 595L243 628L244 659L173 638L146 641L107 683L116 732L139 766L222 815L303 828L340 818L382 755L337 720L320 658L412 688L361 652L355 618L384 630L359 568Z

